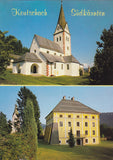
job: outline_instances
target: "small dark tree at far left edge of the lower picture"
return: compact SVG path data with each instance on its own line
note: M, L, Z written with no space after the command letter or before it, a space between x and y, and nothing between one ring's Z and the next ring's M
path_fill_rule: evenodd
M6 115L0 112L0 135L5 136L8 134L8 123L6 120Z

